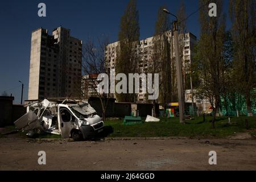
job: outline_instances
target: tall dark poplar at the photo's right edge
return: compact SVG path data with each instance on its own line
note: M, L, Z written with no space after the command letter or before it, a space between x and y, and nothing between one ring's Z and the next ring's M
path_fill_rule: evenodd
M234 41L234 82L236 91L246 97L247 111L251 115L251 94L256 85L255 66L255 1L230 0Z

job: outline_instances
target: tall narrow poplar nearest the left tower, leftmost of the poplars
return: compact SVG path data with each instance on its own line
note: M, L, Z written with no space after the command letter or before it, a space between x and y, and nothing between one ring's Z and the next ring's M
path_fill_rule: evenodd
M136 0L129 1L121 18L118 35L119 48L117 51L115 73L125 73L127 77L129 73L137 73L138 71L139 11L136 6ZM128 82L127 90L129 90ZM122 93L116 94L116 96L119 102L137 101L137 94Z

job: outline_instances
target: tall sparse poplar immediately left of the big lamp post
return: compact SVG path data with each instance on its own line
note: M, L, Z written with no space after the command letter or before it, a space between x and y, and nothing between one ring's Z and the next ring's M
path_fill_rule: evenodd
M168 14L163 12L166 7L158 9L155 22L155 35L152 45L152 57L148 64L150 73L159 73L159 99L158 102L164 107L171 101L171 44L170 37L171 23ZM153 101L155 105L155 101Z

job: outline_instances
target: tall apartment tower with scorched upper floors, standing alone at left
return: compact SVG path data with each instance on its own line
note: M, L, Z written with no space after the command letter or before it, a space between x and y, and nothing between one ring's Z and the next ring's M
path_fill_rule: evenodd
M28 100L81 95L82 41L67 28L32 31Z

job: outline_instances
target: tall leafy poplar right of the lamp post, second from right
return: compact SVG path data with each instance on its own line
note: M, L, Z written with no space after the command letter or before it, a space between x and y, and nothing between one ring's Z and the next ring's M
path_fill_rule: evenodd
M208 0L199 0L205 5ZM213 107L212 127L220 108L221 93L226 85L226 64L224 59L225 15L222 13L222 0L213 1L217 5L217 17L208 15L208 6L200 10L201 36L197 48L197 72L200 84L196 88L199 98L208 98Z

